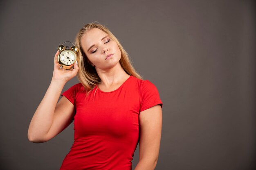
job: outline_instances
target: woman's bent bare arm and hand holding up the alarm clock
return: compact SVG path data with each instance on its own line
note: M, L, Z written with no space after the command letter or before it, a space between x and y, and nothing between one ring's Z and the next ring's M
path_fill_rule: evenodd
M52 139L73 121L74 105L65 96L59 102L58 98L65 83L76 76L79 68L74 64L73 70L60 69L57 56L58 52L54 57L52 81L29 124L28 139L34 143Z

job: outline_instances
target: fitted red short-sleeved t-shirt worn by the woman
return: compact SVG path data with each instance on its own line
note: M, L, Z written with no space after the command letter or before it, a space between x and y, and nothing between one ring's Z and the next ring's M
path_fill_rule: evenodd
M61 170L131 170L139 142L139 113L158 104L162 107L155 85L130 76L112 92L96 86L86 97L78 83L61 96L76 109L74 144Z

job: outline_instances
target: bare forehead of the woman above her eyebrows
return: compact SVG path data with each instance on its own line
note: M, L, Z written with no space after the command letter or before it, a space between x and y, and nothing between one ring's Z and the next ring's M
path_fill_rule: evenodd
M98 28L92 28L90 31L85 33L81 38L81 45L85 49L89 48L93 44L97 43L97 41L101 41L103 37L108 35L107 33L101 31Z

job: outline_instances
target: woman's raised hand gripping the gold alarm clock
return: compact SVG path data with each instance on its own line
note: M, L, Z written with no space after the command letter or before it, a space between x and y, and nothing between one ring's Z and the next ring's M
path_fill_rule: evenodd
M70 68L70 70L66 70L64 68L60 68L60 65L58 64L58 53L56 52L54 57L54 70L52 75L52 80L57 81L63 81L64 83L67 83L67 81L70 81L74 76L76 76L79 67L76 63L74 64L74 69Z

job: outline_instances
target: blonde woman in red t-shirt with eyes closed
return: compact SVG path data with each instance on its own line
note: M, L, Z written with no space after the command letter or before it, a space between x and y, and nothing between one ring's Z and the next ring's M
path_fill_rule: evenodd
M117 38L101 24L86 24L76 36L74 69L61 69L54 57L52 82L28 129L29 141L46 142L74 120L74 144L61 170L153 170L159 155L162 101L142 80ZM58 102L61 91L78 73ZM57 103L58 102L58 103Z

